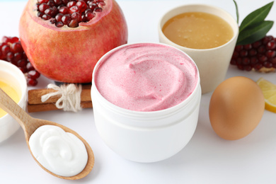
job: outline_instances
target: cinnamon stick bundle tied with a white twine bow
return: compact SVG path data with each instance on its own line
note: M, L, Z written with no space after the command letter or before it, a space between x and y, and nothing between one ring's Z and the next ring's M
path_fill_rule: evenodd
M92 108L91 85L49 84L45 89L28 91L28 112L64 110L79 112Z

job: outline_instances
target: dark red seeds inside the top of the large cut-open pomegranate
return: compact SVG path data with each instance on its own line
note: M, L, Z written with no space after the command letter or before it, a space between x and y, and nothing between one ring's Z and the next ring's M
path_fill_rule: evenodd
M51 23L55 22L62 22L63 25L68 25L70 28L79 27L79 23L81 22L88 22L95 16L96 12L103 11L105 6L104 0L92 0L92 1L84 1L84 0L38 0L38 17L42 18L43 20L52 20L55 19L56 21L50 21ZM85 12L87 9L91 11L91 13ZM71 21L61 21L57 14L62 14L62 16L70 16L71 19L76 19L74 21L74 25ZM72 18L73 13L79 13L79 18ZM67 20L69 20L67 18ZM69 25L70 23L70 25ZM58 28L61 28L63 25L60 23L55 24Z

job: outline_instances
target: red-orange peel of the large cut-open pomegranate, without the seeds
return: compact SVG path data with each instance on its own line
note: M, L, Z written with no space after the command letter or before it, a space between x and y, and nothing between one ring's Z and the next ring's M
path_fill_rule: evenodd
M120 6L105 0L101 12L76 28L57 28L38 17L38 1L29 0L19 23L22 47L36 70L66 83L91 82L93 67L109 50L127 43L127 24Z

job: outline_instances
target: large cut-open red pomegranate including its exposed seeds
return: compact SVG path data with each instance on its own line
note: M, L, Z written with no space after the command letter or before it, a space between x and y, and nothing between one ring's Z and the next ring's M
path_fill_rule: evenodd
M89 83L98 59L127 43L127 23L114 0L29 0L19 35L40 74L54 81Z

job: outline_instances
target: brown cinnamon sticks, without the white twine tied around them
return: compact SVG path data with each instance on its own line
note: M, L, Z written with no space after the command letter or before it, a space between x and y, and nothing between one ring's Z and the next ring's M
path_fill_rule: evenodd
M60 96L53 96L45 102L41 101L41 97L48 93L54 93L53 89L33 89L28 91L28 112L42 112L49 110L59 110L55 103L60 98ZM81 90L81 108L92 108L91 101L91 85L83 85Z

